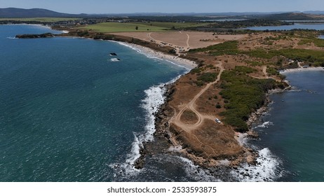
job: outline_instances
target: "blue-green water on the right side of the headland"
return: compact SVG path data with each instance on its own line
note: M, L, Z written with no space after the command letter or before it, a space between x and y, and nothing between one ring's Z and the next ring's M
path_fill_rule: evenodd
M278 160L277 181L324 181L324 71L285 73L293 90L276 93L255 130Z

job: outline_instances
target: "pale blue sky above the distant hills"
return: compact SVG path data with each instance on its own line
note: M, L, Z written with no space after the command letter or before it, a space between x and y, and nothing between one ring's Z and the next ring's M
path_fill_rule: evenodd
M324 10L323 0L0 0L0 8L62 13L221 13Z

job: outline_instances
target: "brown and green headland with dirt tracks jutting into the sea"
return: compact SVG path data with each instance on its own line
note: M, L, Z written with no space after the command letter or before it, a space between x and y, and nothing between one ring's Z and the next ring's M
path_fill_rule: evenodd
M257 165L257 151L246 146L243 138L258 137L251 125L266 111L271 102L269 93L289 89L281 73L313 70L312 67L319 70L324 66L324 40L317 38L317 31L255 31L243 35L239 31L231 32L235 34L231 38L209 33L215 37L208 40L209 46L190 45L180 51L175 48L179 43L170 39L161 41L163 36L147 41L146 37L88 29L65 30L69 33L55 36L121 41L142 52L188 64L191 69L166 86L166 102L155 114L157 142L143 144L141 157L134 165L136 169L144 167L147 155L161 152L179 153L205 168L237 169L242 163ZM180 33L184 36L185 31ZM189 46L189 33L187 36ZM201 32L200 41L204 41L203 36ZM221 123L216 123L216 118ZM177 150L168 151L170 146Z

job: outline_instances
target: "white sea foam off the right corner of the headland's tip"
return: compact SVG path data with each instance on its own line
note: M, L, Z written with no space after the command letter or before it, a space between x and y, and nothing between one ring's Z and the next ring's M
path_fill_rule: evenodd
M277 172L279 165L280 160L272 155L269 148L263 148L259 151L257 165L244 164L232 171L231 175L238 181L245 182L275 181L281 177L281 173Z

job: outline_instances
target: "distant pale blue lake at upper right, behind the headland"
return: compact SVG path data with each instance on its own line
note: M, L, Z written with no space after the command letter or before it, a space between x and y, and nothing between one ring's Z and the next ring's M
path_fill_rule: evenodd
M298 24L298 23L295 23L295 25L248 27L246 29L256 30L256 31L265 31L265 30L274 31L274 30L292 30L292 29L323 30L324 24Z

